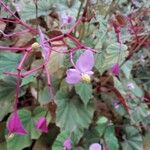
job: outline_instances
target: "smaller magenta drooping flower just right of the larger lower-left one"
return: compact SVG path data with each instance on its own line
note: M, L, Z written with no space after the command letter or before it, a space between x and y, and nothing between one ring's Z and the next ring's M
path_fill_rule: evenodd
M36 128L42 132L48 132L47 121L45 117L40 117L36 123Z

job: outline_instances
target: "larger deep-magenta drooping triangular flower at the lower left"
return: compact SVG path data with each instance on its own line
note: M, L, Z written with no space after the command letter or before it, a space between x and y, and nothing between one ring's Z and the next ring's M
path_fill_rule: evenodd
M13 114L9 118L7 122L7 129L9 131L9 134L27 134L27 131L23 127L23 124L19 118L17 111L13 112Z

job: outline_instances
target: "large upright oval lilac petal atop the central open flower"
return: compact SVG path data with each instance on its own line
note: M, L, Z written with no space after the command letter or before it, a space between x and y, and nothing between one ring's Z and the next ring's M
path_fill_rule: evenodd
M79 69L82 73L85 73L87 71L91 71L94 66L94 56L93 52L90 50L86 50L79 59L76 62L76 67Z

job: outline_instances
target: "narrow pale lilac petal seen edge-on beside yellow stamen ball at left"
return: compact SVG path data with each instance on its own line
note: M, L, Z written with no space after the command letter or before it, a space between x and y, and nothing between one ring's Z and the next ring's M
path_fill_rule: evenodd
M39 34L40 34L40 45L41 45L41 48L42 48L42 56L45 60L48 60L48 57L49 57L49 53L50 53L50 46L48 43L45 43L45 36L44 34L42 33L41 29L38 28L39 30Z

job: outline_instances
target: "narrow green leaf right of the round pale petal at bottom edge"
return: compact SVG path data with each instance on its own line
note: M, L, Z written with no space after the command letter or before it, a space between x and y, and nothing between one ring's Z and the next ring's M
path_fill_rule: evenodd
M104 134L104 139L105 139L105 142L106 142L109 150L118 150L119 149L118 140L115 136L113 127L108 127L106 129L105 134Z

